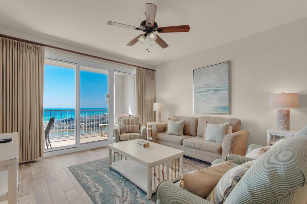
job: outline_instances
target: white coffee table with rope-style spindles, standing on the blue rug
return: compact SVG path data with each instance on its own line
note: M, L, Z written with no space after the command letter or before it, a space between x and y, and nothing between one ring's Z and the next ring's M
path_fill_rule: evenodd
M140 187L151 199L151 194L156 192L157 185L163 180L175 182L181 178L183 151L153 142L148 142L150 147L142 148L137 146L137 141L145 140L109 144L109 168Z

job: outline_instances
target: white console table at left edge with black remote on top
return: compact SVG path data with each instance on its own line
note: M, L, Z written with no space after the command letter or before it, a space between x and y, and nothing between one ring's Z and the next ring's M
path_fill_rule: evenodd
M7 200L8 204L17 204L18 133L0 134L0 139L6 138L13 141L0 143L0 202Z

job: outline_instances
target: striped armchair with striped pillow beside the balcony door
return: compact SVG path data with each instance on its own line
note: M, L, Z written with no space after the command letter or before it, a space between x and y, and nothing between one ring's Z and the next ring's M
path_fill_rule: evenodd
M138 125L140 127L140 132L130 132L130 133L122 133L120 134L120 126L121 125L133 125L130 124L122 124L122 119L130 119L135 118L135 125ZM114 127L113 135L115 142L118 143L120 141L126 141L126 140L132 140L132 139L146 139L147 137L147 128L145 125L141 124L141 116L122 116L118 118L118 126Z

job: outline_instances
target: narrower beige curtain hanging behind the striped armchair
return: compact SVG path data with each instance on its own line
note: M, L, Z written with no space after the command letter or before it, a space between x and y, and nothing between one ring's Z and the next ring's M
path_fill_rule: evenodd
M155 121L153 103L156 102L155 72L136 68L136 112L142 124Z

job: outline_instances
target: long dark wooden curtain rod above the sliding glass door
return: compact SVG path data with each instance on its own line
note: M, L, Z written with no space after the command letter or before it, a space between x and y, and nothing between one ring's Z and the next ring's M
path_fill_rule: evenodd
M83 56L92 57L92 58L96 58L96 59L100 59L100 60L104 60L104 61L110 61L110 62L114 62L114 63L121 64L121 65L127 65L127 66L131 66L131 67L138 67L138 68L141 68L141 69L147 69L147 70L154 71L154 72L156 71L154 69L149 69L149 68L141 67L141 66L138 66L138 65L132 65L132 64L125 63L125 62L121 62L121 61L111 60L111 59L108 59L108 58L98 57L98 56L95 56L95 55L85 54L85 53L82 53L82 52L68 50L68 49L64 49L64 48L60 48L60 47L56 47L56 46L52 46L52 45L46 45L46 44L43 44L43 43L37 43L37 42L30 41L30 40L25 40L25 39L21 39L21 38L12 37L12 36L9 36L9 35L2 35L2 34L0 34L0 37L12 39L12 40L18 40L18 41L25 42L25 43L31 43L31 44L34 44L34 45L50 47L50 48L57 49L57 50L63 50L63 51L66 51L66 52L71 52L71 53L74 53L74 54L80 54L80 55L83 55Z

